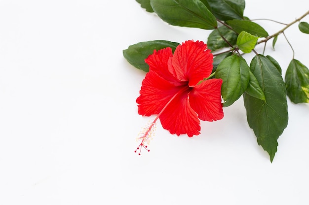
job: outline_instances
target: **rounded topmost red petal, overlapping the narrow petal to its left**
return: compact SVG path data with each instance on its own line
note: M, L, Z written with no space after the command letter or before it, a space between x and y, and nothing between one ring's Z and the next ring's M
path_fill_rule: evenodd
M207 78L213 68L213 55L202 41L186 41L179 45L169 63L169 71L181 81L189 81L194 87Z

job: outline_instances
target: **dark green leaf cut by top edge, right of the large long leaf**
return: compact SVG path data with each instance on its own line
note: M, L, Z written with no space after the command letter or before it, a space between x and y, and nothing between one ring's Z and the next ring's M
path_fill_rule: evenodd
M210 11L222 21L243 19L245 0L207 0Z

